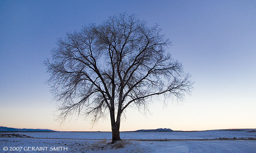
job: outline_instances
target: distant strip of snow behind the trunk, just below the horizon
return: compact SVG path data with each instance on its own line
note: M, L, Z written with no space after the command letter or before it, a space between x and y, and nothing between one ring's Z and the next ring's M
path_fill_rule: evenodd
M121 132L121 139L218 139L256 138L254 130L208 130L195 132ZM111 139L111 132L22 132L35 138Z

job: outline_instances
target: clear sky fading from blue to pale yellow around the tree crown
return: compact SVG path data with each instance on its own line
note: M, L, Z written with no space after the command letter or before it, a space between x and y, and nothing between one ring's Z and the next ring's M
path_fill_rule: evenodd
M124 12L160 25L195 84L184 102L128 108L120 131L256 128L255 0L0 0L0 126L111 131L108 116L56 121L43 61L57 38Z

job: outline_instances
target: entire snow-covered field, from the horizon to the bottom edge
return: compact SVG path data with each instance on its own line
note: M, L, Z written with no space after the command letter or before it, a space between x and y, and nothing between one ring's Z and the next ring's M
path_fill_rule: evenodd
M33 138L0 138L1 153L256 153L255 129L122 132L120 137L124 141L114 145L109 144L109 132L16 134L25 134ZM8 150L4 147L8 147Z

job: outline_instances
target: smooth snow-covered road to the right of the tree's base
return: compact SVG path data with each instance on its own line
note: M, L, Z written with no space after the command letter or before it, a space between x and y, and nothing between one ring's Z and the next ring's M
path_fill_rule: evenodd
M173 141L141 145L156 153L256 153L256 141Z

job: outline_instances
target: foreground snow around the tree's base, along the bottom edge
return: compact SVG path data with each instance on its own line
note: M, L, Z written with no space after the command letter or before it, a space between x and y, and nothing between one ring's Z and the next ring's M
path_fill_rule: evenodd
M1 153L18 153L4 151L4 147L22 147L21 153L48 153L51 147L62 150L54 153L255 153L255 140L211 140L211 141L126 141L124 148L116 148L102 140L66 140L39 138L0 138ZM26 151L28 147L48 148L47 150ZM63 150L63 147L66 147Z

